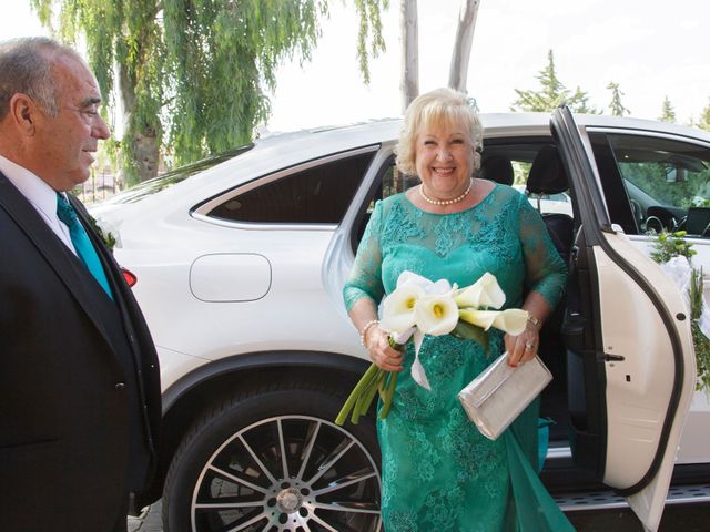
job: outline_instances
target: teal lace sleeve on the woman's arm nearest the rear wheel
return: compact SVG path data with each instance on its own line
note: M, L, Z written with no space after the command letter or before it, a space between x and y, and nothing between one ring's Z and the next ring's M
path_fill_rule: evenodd
M373 214L365 227L355 263L351 275L343 288L345 308L349 311L355 301L368 297L375 301L375 306L384 295L382 284L382 249L379 238L382 235L383 207L382 202L375 203Z

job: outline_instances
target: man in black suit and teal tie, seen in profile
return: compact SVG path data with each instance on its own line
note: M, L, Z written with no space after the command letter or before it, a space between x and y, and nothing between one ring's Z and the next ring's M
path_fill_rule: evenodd
M44 38L0 43L0 530L125 531L150 481L158 357L83 206L109 137L97 80Z

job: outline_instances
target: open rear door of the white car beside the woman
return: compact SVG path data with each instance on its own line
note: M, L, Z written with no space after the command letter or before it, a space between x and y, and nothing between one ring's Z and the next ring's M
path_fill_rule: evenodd
M572 457L656 531L696 385L690 315L672 280L611 225L569 109L550 125L578 227L564 326Z

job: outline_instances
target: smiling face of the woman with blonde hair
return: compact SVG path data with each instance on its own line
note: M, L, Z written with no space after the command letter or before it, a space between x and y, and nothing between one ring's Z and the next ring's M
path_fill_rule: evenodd
M428 195L449 200L468 187L474 172L474 146L462 124L423 124L415 155L417 175Z

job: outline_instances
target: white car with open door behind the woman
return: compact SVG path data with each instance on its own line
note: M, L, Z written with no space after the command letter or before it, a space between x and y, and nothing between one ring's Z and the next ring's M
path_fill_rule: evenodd
M710 135L566 109L483 122L484 163L503 161L485 177L510 182L515 164L526 190L570 200L544 216L570 268L540 348L555 375L544 480L566 510L611 488L655 530L671 475L676 499L710 500L688 310L646 235L707 198ZM382 529L372 412L333 421L369 362L341 294L354 250L373 202L413 184L393 166L399 127L262 139L93 208L161 358L160 470L140 502L162 497L171 532Z

